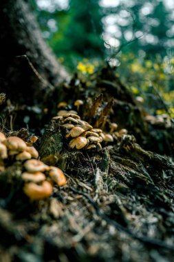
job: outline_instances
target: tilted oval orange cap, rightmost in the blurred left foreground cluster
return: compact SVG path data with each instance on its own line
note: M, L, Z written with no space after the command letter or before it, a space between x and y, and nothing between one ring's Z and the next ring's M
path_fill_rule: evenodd
M48 174L52 178L52 180L56 182L57 185L59 186L65 185L67 183L65 174L63 173L63 171L60 168L50 166L50 170Z

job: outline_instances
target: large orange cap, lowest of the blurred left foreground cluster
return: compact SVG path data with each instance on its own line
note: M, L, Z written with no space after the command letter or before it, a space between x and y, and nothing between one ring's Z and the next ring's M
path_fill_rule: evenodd
M48 181L43 181L41 185L30 182L25 183L23 191L31 200L45 199L52 194L52 184Z

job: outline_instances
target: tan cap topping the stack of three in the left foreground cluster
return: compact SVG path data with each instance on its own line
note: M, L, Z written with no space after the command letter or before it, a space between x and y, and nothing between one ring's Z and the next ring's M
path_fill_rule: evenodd
M48 165L45 165L45 163L37 159L30 159L25 161L24 167L30 173L44 172L46 170L49 170Z

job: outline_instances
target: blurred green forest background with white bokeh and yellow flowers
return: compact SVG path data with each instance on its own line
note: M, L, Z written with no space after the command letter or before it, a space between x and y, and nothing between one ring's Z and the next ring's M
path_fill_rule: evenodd
M105 59L151 113L165 112L160 92L174 115L173 0L31 1L43 37L69 72L91 74Z

